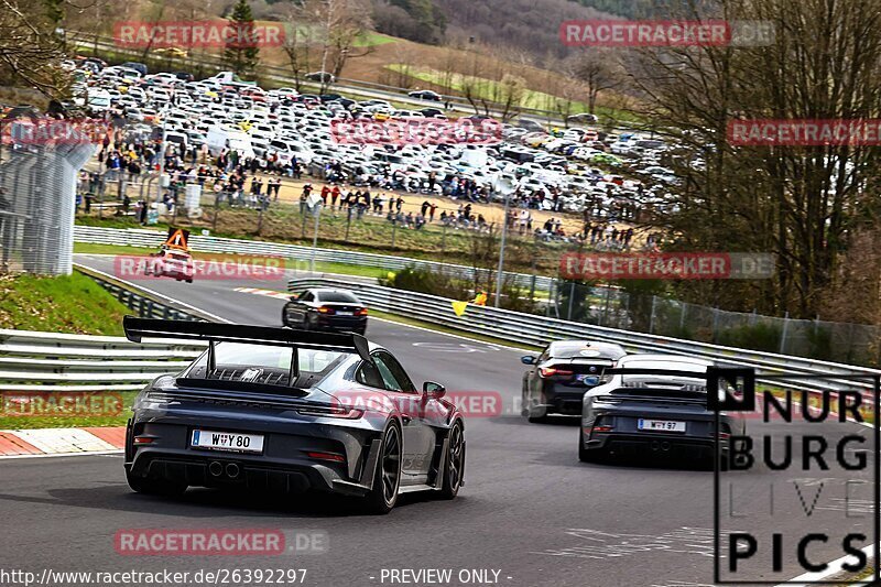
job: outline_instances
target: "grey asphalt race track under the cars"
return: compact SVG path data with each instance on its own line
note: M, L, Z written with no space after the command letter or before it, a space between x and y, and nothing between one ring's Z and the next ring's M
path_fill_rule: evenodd
M111 258L77 256L77 262L112 272ZM140 284L224 318L280 324L283 302L233 291L239 286L283 291L282 282L153 279ZM447 585L463 585L463 569L499 572L510 586L698 587L713 584L713 472L688 463L588 465L578 461L577 420L529 424L515 398L523 352L427 330L372 320L368 337L391 349L417 382L434 380L450 391L496 391L502 413L466 422L466 485L454 501L405 496L388 517L362 517L345 503L298 498L252 501L249 496L191 489L178 500L139 496L129 490L122 457L80 456L0 460L0 520L4 529L0 568L54 570L172 570L217 568L306 568L306 585L390 585L383 569L453 569ZM782 433L782 424L750 424ZM845 424L871 443L869 427ZM839 430L839 428L836 428ZM841 428L844 430L844 428ZM867 446L871 446L868 444ZM867 470L872 470L870 466ZM793 478L825 477L828 491L817 497L814 522L840 530L850 524L872 542L868 515L845 518L838 472L753 471L736 508L754 533L805 530L798 515L814 499L816 485L793 491ZM856 478L856 476L853 476ZM768 486L780 483L770 514ZM788 483L787 487L784 487ZM744 492L746 491L746 492ZM754 499L746 501L749 494ZM838 504L836 509L835 504ZM726 504L728 508L728 504ZM826 518L817 518L823 517ZM812 524L814 522L811 522ZM325 554L292 556L121 556L113 536L127 529L281 529L324 532ZM739 530L739 529L733 529ZM816 530L812 525L808 531ZM780 574L798 576L791 544ZM811 547L811 558L844 556L836 540ZM762 553L765 555L766 553ZM757 556L768 565L768 556ZM749 569L747 567L747 569ZM401 584L401 583L398 583ZM429 583L410 583L428 585ZM467 584L480 584L471 583ZM485 583L486 584L486 583Z

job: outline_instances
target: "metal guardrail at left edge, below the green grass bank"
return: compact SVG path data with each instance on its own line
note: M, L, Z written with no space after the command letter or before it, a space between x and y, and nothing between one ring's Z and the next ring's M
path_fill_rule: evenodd
M0 392L137 391L178 372L205 346L0 329Z

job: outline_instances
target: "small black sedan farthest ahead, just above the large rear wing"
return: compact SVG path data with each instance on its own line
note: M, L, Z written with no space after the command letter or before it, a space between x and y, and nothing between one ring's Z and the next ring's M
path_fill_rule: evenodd
M282 308L282 325L302 330L365 334L367 306L346 290L311 289L291 296Z

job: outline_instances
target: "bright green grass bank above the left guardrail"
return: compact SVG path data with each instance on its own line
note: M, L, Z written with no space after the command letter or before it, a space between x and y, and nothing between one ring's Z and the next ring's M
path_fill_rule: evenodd
M0 328L122 336L127 313L85 275L0 276Z

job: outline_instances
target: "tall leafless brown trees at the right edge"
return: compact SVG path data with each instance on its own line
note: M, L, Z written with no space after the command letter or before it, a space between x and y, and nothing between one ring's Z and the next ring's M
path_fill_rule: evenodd
M742 146L736 119L873 119L881 108L877 0L719 0L728 21L774 23L768 46L641 53L641 115L676 149L684 178L660 216L681 250L776 254L774 279L682 283L699 303L813 318L855 222L878 218L878 146ZM823 13L823 19L816 18ZM677 15L678 17L678 15ZM695 300L696 298L696 300Z

